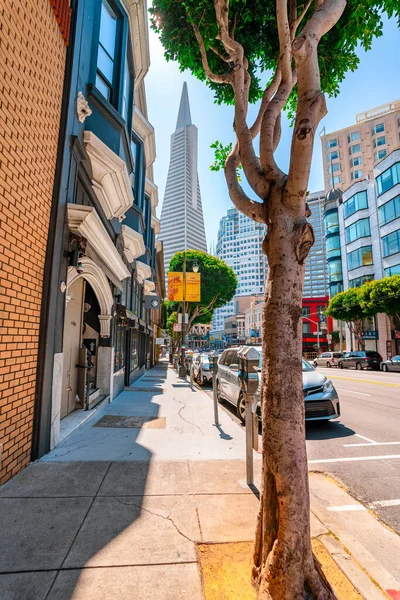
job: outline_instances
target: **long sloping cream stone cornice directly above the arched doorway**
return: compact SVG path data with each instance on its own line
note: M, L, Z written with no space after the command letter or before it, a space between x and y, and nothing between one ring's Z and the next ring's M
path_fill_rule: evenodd
M92 206L68 203L67 214L70 230L87 239L88 244L95 250L115 277L119 281L129 277L130 273L101 222L97 211Z

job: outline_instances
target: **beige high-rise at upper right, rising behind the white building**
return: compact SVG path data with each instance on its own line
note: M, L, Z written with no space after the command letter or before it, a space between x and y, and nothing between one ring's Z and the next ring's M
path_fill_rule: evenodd
M356 116L356 123L321 137L325 192L345 191L373 177L374 167L400 146L400 100Z

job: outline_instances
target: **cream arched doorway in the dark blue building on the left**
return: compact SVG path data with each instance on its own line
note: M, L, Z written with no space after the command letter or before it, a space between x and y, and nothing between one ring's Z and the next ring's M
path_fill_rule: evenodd
M87 257L80 263L79 271L68 270L61 419L110 392L105 375L111 375L112 357L104 352L109 348L100 348L100 338L110 336L113 296L100 267Z

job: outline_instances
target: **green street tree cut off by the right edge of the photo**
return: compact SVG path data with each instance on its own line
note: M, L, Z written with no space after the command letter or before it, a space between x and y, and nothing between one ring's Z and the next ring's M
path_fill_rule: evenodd
M359 297L363 310L385 313L396 329L396 323L400 323L400 275L365 283L359 288Z

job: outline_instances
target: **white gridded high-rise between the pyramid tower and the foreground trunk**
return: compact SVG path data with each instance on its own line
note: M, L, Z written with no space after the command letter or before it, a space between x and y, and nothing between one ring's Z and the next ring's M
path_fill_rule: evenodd
M220 221L216 256L232 267L238 276L237 296L264 292L268 262L261 245L265 233L265 225L249 219L237 208L230 208ZM215 310L213 330L223 329L225 317L234 313L233 301Z

